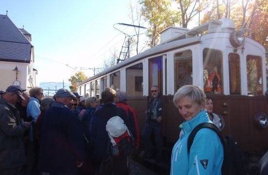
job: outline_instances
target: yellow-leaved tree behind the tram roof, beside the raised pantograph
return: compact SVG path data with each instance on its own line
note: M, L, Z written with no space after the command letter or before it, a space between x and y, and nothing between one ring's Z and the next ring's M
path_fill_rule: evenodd
M149 47L159 43L160 32L179 22L180 14L172 10L172 0L140 0L141 15L149 23L147 36L150 38Z

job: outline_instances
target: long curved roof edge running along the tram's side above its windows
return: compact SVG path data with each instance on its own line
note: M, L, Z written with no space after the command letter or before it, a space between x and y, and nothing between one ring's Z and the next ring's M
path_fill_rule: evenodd
M173 50L173 49L178 49L178 48L182 48L182 47L186 47L186 46L190 46L190 45L193 45L193 44L198 44L200 43L200 38L201 36L196 36L196 37L191 37L191 38L186 38L186 39L181 39L181 40L175 40L175 41L172 41L172 42L169 42L169 43L165 43L165 44L159 44L153 48L150 48L142 53L139 53L127 60L124 60L118 64L116 64L115 66L113 67L110 67L92 77L89 77L88 79L84 80L83 82L79 83L77 86L80 86L84 83L87 83L89 81L91 81L92 79L95 79L97 77L100 77L100 76L103 76L109 72L112 72L114 70L117 70L121 67L124 67L126 65L129 65L131 63L134 63L136 61L139 61L143 58L146 58L146 57L149 57L149 56L153 56L153 55L156 55L156 54L160 54L160 53L164 53L164 52L167 52L168 50Z

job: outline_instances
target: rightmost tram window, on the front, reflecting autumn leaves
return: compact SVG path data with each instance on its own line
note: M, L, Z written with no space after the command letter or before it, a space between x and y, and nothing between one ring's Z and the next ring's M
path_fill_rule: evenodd
M248 95L263 94L262 60L259 56L247 56Z

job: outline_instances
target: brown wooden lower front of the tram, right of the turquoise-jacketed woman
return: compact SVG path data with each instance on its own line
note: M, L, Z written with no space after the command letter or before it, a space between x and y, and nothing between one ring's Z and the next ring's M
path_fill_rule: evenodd
M254 116L257 112L268 115L268 105L264 96L222 96L211 95L216 114L224 117L223 135L232 135L245 150L268 147L268 128L257 129L254 126ZM223 103L227 103L224 106ZM224 115L223 112L227 112Z

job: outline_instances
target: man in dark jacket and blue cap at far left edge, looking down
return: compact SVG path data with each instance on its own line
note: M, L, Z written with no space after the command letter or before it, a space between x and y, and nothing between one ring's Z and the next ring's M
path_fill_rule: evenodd
M25 100L20 86L9 86L0 98L0 175L19 175L26 163L23 134L31 126L21 123L15 104Z

